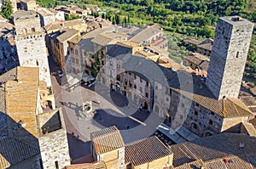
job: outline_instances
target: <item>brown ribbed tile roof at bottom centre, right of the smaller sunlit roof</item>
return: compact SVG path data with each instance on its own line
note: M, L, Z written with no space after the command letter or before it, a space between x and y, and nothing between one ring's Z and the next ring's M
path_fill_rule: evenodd
M172 155L171 150L155 136L125 145L125 164L131 162L133 166L139 166L168 155Z

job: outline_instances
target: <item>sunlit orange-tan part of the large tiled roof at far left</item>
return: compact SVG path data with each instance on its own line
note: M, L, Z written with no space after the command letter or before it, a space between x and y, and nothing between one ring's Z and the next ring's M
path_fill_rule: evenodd
M38 68L17 67L17 81L5 83L6 114L11 121L24 121L27 132L38 137L36 109L38 100ZM11 124L11 122L9 121Z

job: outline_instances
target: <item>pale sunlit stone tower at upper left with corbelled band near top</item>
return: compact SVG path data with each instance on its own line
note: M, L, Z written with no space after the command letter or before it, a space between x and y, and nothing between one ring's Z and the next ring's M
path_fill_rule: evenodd
M48 54L44 31L35 12L17 11L15 14L15 42L20 66L38 67L39 80L51 87Z

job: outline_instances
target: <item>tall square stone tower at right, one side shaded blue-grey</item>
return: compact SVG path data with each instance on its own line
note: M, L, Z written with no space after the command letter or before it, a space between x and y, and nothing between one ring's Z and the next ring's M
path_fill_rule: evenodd
M239 16L218 19L206 82L217 99L238 98L252 32Z

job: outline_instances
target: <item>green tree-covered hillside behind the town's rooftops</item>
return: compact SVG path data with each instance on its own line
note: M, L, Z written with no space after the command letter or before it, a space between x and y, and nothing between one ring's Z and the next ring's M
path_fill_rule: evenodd
M255 0L38 0L44 7L77 4L85 8L96 4L107 11L102 18L113 24L144 25L157 23L166 31L181 33L191 37L214 37L214 27L218 17L240 15L256 22ZM94 13L95 16L99 14ZM256 72L256 37L253 36L248 54L247 70Z

